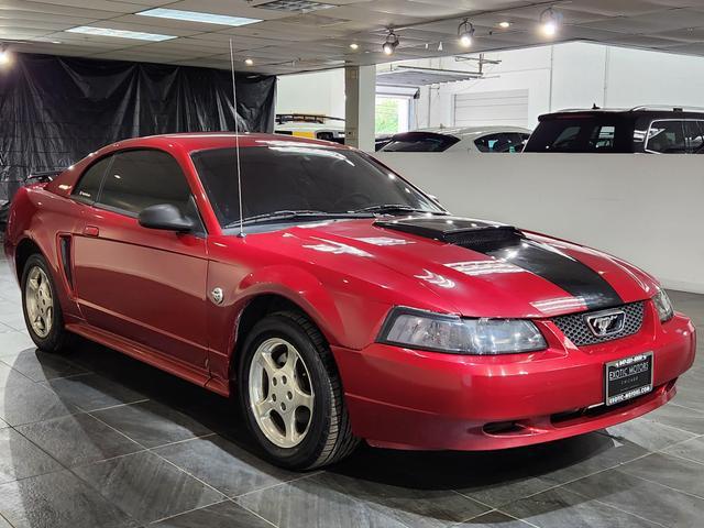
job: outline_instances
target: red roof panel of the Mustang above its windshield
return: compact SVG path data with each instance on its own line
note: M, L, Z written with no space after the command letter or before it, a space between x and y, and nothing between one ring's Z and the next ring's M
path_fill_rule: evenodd
M282 134L262 134L244 132L234 134L231 132L185 132L178 134L150 135L145 138L134 138L131 140L119 141L108 148L134 148L140 146L162 146L172 147L179 146L187 152L204 151L209 148L234 147L238 143L241 147L249 146L287 146L287 145L316 145L336 148L344 148L339 143L331 141L314 140L308 138L298 138ZM349 147L348 147L349 148Z

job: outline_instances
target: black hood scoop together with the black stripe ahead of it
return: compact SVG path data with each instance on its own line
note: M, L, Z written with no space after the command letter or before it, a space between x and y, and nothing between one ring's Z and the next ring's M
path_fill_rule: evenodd
M579 297L590 310L624 304L612 285L594 270L527 239L512 226L458 217L409 217L374 224L502 258Z

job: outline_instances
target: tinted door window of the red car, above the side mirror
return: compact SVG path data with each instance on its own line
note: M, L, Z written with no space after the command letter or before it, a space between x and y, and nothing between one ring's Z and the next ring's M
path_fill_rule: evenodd
M180 166L161 151L125 151L116 154L100 193L100 204L139 215L157 204L170 204L194 215L190 189Z

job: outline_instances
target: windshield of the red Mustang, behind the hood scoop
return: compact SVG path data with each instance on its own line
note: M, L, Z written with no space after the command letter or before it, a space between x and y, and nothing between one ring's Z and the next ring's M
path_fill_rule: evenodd
M443 212L430 198L371 157L342 148L293 142L240 148L244 219L295 211L341 216L374 209ZM218 221L240 219L235 150L191 155ZM371 213L371 212L370 212ZM283 215L279 215L283 216Z

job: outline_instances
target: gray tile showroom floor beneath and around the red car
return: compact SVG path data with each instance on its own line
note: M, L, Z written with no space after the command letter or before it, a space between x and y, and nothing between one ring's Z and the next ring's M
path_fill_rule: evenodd
M704 323L704 296L672 293ZM702 527L704 359L668 406L495 453L362 448L295 474L224 399L77 341L37 352L0 261L0 528Z

